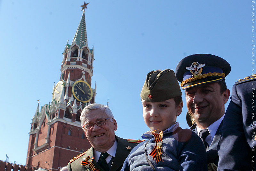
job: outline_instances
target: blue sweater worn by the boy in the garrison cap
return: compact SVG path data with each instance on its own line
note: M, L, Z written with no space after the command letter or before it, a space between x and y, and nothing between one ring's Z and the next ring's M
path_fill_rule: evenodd
M151 171L153 170L145 157L155 169L161 171L208 171L206 152L204 144L195 132L190 129L178 127L174 132L163 135L162 161L156 163L149 153L156 145L155 138L151 138L145 147L147 141L138 144L124 161L121 171Z

